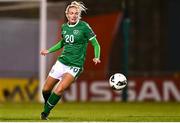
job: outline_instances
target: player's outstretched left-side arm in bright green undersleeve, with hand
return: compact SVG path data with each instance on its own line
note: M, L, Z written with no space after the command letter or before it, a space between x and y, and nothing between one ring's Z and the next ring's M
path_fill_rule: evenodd
M57 50L60 50L64 45L63 45L63 39L61 39L57 44L55 44L54 46L52 46L51 48L49 48L48 50L41 50L40 51L40 54L41 55L47 55L49 53L52 53L52 52L56 52Z

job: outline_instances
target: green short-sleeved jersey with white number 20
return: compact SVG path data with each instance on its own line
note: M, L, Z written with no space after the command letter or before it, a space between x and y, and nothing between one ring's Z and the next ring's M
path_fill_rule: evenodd
M68 66L83 67L89 40L95 34L88 23L78 21L75 25L65 23L61 27L64 49L58 60Z

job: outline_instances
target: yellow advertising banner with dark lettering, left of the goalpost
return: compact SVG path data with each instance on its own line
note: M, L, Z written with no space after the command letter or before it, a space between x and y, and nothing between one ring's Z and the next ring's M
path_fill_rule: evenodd
M0 102L38 101L38 86L34 78L0 78Z

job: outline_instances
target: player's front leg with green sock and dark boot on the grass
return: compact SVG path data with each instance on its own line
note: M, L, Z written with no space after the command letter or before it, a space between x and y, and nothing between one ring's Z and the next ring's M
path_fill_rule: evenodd
M58 103L58 101L61 98L62 93L65 89L67 89L72 82L74 81L74 76L72 76L69 73L65 73L62 77L62 80L59 82L59 85L56 87L54 92L49 97L45 107L44 111L42 112L45 116L48 116L51 109Z

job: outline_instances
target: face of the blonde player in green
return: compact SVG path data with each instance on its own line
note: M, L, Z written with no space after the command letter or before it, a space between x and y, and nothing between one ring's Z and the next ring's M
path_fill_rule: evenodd
M70 24L75 24L78 21L79 18L79 11L77 8L72 7L69 8L69 11L67 13L67 19Z

